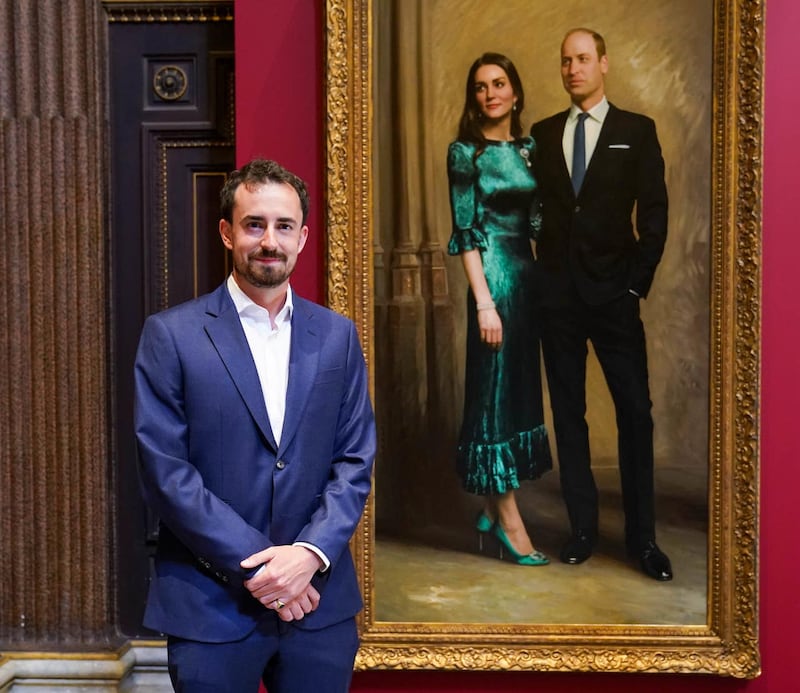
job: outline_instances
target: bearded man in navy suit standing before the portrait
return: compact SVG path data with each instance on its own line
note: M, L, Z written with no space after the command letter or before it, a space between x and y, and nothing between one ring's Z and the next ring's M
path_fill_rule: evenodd
M273 161L234 171L233 272L150 316L135 365L145 500L160 518L145 625L176 691L347 691L362 607L348 542L375 426L353 323L292 292L308 194Z

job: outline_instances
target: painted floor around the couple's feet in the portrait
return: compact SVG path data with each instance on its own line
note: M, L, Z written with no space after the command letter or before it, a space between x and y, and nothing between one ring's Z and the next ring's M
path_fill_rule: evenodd
M424 537L377 534L377 621L530 624L702 625L706 622L707 500L705 470L658 469L658 543L670 556L671 582L646 577L625 556L616 468L595 470L601 491L600 539L587 562L558 561L566 516L557 473L527 484L520 508L536 547L551 564L522 567L497 558L495 543L478 552L472 520L463 529L430 527ZM470 502L472 499L469 499Z

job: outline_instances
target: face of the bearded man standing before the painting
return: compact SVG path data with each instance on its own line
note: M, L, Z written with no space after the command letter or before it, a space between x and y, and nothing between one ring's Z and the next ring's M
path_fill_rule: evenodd
M240 185L234 194L233 221L219 232L232 251L239 285L275 288L288 281L308 238L300 197L288 183Z

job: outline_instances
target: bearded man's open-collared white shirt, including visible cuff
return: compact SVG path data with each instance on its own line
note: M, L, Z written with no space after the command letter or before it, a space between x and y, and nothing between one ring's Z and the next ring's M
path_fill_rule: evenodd
M289 353L292 344L292 288L286 289L286 302L275 316L270 319L269 311L254 303L239 288L233 274L228 277L228 292L233 305L239 313L250 353L256 364L267 416L272 428L275 442L280 446L283 420L286 416L286 388L289 384ZM322 571L328 569L328 557L316 546L306 542L297 542L296 546L304 546L313 551L322 561ZM263 568L263 566L262 566ZM261 571L261 568L258 572Z

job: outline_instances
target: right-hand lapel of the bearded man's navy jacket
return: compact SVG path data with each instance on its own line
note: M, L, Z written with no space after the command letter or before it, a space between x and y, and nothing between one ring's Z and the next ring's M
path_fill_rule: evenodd
M286 416L283 421L280 451L292 442L297 433L306 402L311 396L319 367L321 335L314 325L314 304L293 297L292 345L289 352L289 383L286 389Z

